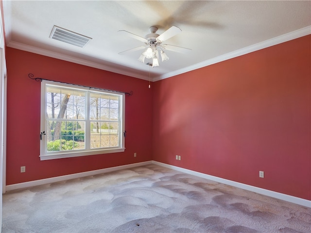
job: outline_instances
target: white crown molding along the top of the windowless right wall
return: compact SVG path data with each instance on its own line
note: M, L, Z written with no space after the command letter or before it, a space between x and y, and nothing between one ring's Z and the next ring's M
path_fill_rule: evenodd
M156 81L159 81L162 79L167 79L167 78L176 76L178 74L186 73L186 72L189 72L189 71L192 71L195 69L199 69L202 67L207 67L207 66L210 66L212 64L223 62L225 60L228 60L228 59L231 59L234 57L238 57L238 56L242 56L244 54L254 52L257 50L262 50L262 49L265 49L265 48L268 48L268 47L271 47L271 46L274 46L274 45L277 45L280 43L284 43L284 42L289 41L289 40L294 40L296 38L299 38L299 37L302 37L305 35L309 35L309 34L311 34L311 26L298 29L294 32L290 32L290 33L286 33L286 34L283 34L280 36L276 36L272 39L259 42L257 44L242 48L240 50L228 52L226 54L220 55L218 57L214 57L214 58L206 60L204 62L197 63L197 64L190 66L190 67L185 67L182 69L175 70L173 72L166 73L164 75L157 76L153 79L153 82L156 82Z

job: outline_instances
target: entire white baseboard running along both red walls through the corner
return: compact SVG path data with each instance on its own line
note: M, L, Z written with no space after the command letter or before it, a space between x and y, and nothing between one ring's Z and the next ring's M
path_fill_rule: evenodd
M219 183L224 183L224 184L228 184L234 187L238 187L238 188L242 188L248 191L252 191L255 193L259 193L268 197L272 197L272 198L276 198L279 200L285 200L285 201L289 201L298 205L302 205L302 206L306 206L311 208L311 200L306 200L306 199L302 199L302 198L297 198L294 196L290 196L287 194L283 194L283 193L278 193L275 191L271 191L271 190L267 190L267 189L263 189L263 188L259 188L259 187L255 187L255 186L251 186L248 184L244 184L244 183L239 183L239 182L235 182L235 181L230 181L230 180L226 180L223 178L219 178L216 176L211 176L211 175L207 175L201 172L197 172L197 171L192 171L186 168L182 168L182 167L178 167L178 166L173 166L173 165L168 165L168 164L164 164L164 163L160 163L160 162L156 162L156 161L146 161L146 162L141 162L141 163L136 163L136 164L128 164L128 165L123 165L123 166L114 166L114 167L108 167L108 168L103 168L103 169L99 169L99 170L93 170L93 171L86 171L86 172L80 172L80 173L75 173L75 174L70 174L70 175L66 175L66 176L58 176L58 177L52 177L52 178L48 178L48 179L42 179L42 180L37 180L37 181L30 181L30 182L24 182L24 183L16 183L16 184L11 184L11 185L6 185L6 191L11 191L11 190L15 190L15 189L20 189L20 188L29 188L29 187L33 187L33 186L37 186L37 185L41 185L41 184L47 184L47 183L55 183L55 182L60 182L60 181L66 181L66 180L70 180L70 179L76 179L76 178L81 178L81 177L86 177L86 176L92 176L92 175L97 175L97 174L102 174L102 173L106 173L106 172L111 172L111 171L117 171L117 170L121 170L121 169L127 169L127 168L132 168L132 167L136 167L136 166L144 166L144 165L148 165L148 164L155 164L158 166L163 166L163 167L167 167L176 171L180 171L180 172L184 172L190 175L194 175L194 176L198 176L207 180L211 180L211 181L215 181L215 182L219 182Z

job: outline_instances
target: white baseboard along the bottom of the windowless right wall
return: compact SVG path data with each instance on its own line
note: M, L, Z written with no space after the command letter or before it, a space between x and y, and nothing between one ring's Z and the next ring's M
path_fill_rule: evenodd
M163 164L160 162L156 162L156 161L152 161L153 164L158 165L158 166L164 166L176 171L181 171L190 175L194 175L194 176L198 176L201 178L205 178L207 180L211 180L211 181L215 181L215 182L219 182L219 183L224 183L224 184L228 184L234 187L238 187L238 188L242 188L248 191L252 191L254 193L259 193L268 197L272 197L272 198L276 198L279 200L285 200L285 201L289 201L298 205L302 205L302 206L306 206L311 208L311 200L306 200L306 199L302 199L302 198L297 198L294 196L290 196L287 194L283 194L283 193L278 193L275 191L271 191L271 190L267 190L267 189L263 189L263 188L259 188L259 187L255 187L255 186L251 186L248 184L244 184L244 183L239 183L239 182L235 182L235 181L230 181L230 180L226 180L223 178L219 178L216 176L211 176L211 175L207 175L201 172L197 172L197 171L192 171L186 168L182 168L182 167L178 167L178 166L173 166L173 165L168 165L168 164Z

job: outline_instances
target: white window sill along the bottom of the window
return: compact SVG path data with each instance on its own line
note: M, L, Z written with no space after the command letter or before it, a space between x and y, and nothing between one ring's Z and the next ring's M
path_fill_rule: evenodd
M52 153L40 155L40 160L50 160L50 159L63 159L63 158L71 158L71 157L80 157L86 155L95 155L95 154L108 154L108 153L118 153L124 152L125 148L118 149L107 149L107 150L89 150L89 151L73 151L67 153Z

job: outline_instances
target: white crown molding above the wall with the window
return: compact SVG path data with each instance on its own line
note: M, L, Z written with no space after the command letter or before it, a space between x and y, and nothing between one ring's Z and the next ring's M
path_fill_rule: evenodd
M8 40L6 40L8 41ZM80 65L84 65L87 67L93 67L93 68L97 68L97 69L102 69L105 71L110 71L113 73L117 73L117 74L122 74L122 75L126 75L126 76L130 76L130 77L134 77L134 78L138 78L138 79L144 79L147 80L146 76L143 75L138 75L134 72L127 72L121 69L116 69L116 68L112 68L109 66L105 66L103 64L99 64L99 63L95 63L95 62L90 62L87 61L85 59L79 59L79 58L75 58L72 56L68 56L68 55L64 55L58 52L54 52L54 51L50 51L50 50L44 50L44 49L39 49L36 48L34 46L29 46L29 45L25 45L22 43L18 43L15 41L10 41L7 44L7 47L13 48L13 49L17 49L17 50L23 50L23 51L27 51L27 52L32 52L32 53L36 53L36 54L40 54L43 56L47 56L47 57L52 57L52 58L56 58L59 60L63 60L63 61L67 61L67 62L72 62L72 63L76 63L76 64L80 64Z

